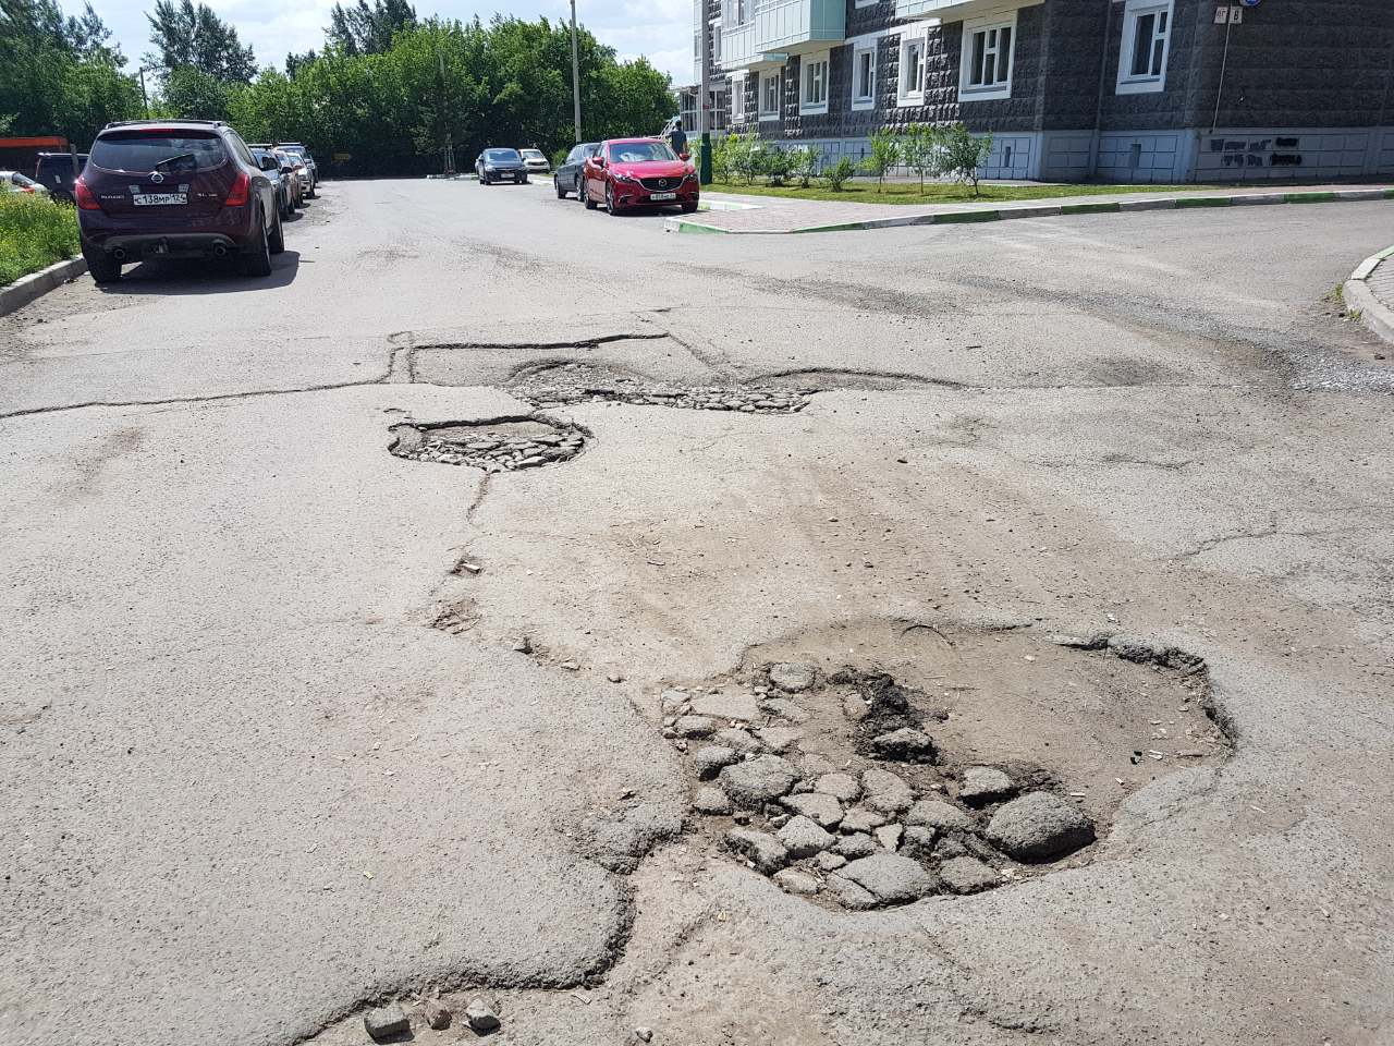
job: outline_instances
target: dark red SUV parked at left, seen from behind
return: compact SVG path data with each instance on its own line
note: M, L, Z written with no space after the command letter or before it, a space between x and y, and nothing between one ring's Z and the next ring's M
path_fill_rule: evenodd
M74 185L92 279L117 280L144 258L229 255L248 276L269 276L270 255L286 250L279 177L220 121L107 124Z

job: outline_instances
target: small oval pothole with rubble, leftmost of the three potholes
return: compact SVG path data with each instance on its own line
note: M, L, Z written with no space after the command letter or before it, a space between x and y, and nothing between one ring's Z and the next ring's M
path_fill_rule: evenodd
M489 421L404 421L392 425L388 449L397 457L467 464L488 473L535 469L576 457L588 434L537 416Z

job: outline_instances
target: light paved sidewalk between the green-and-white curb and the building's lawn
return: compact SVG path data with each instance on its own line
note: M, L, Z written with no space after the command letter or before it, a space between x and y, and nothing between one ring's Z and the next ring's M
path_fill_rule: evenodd
M822 199L710 192L712 204L744 204L749 209L704 211L697 216L669 218L666 229L677 233L822 233L882 229L902 225L997 222L1009 218L1174 211L1193 206L1243 206L1263 204L1326 204L1362 199L1394 199L1388 184L1235 185L1185 192L1115 192L1057 199L1022 199L983 204L839 204Z

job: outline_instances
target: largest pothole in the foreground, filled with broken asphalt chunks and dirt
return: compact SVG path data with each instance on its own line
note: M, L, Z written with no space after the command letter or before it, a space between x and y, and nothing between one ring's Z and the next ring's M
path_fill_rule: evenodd
M1146 778L1228 757L1192 654L933 632L942 655L905 674L775 649L662 689L690 827L788 893L870 909L1089 863Z

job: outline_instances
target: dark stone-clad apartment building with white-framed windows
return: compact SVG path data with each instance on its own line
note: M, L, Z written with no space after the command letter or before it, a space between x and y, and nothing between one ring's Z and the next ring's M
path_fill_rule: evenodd
M991 132L988 177L1394 174L1394 0L694 0L723 120L859 158Z

